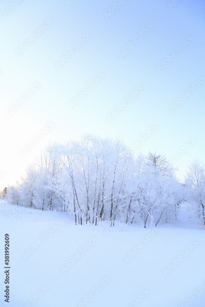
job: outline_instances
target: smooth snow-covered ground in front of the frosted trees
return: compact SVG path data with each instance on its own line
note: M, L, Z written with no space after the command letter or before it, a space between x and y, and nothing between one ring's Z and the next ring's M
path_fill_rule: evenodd
M0 202L10 235L10 307L204 307L205 229L74 225L64 212ZM106 225L107 224L107 225Z

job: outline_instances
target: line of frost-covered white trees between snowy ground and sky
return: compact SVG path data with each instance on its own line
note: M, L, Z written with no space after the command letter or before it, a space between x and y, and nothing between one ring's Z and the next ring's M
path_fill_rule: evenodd
M190 162L183 181L162 154L135 153L120 138L85 134L53 143L1 197L39 210L66 211L75 224L173 222L183 209L205 225L205 168Z

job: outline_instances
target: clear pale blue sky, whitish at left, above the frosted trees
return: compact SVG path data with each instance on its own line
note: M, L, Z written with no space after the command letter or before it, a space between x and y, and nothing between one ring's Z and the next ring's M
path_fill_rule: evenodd
M84 133L205 162L205 3L3 0L0 188Z

